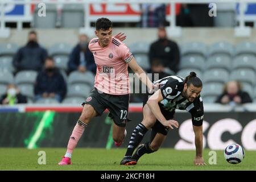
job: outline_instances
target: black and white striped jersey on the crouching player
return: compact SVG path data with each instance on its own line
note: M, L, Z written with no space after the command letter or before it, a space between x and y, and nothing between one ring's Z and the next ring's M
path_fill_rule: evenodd
M164 77L154 84L161 84L160 90L163 100L159 103L162 109L174 112L175 109L187 110L191 113L192 122L195 126L201 126L204 118L204 106L201 96L197 97L193 102L189 102L181 93L184 89L184 78L180 76Z

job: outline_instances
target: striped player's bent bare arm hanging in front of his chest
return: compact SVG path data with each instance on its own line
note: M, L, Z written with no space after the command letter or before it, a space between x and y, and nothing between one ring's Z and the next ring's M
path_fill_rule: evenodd
M171 129L174 129L174 127L178 128L179 123L177 121L172 119L167 121L166 118L164 118L160 110L160 107L158 105L158 102L162 100L163 100L163 96L159 89L150 98L148 98L147 105L148 107L150 107L150 110L155 115L156 119L158 119L158 121L162 123L163 126L170 127Z

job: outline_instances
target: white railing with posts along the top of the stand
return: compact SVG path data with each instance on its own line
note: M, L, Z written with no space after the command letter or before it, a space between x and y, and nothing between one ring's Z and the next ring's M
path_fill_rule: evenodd
M41 1L34 1L34 0L20 0L20 1L9 1L9 0L2 0L0 2L0 11L5 12L5 4L10 5L35 5L38 3L47 3L47 4L57 4L57 5L64 5L68 3L79 3L85 5L85 19L84 19L84 27L82 27L81 31L90 30L90 17L89 17L89 5L92 3L156 3L154 0L59 0L59 1L52 1L52 0L41 0ZM235 35L236 36L248 36L250 35L250 28L245 26L245 12L246 12L246 4L247 3L256 3L256 0L158 0L157 3L166 3L170 4L171 14L167 16L167 20L170 21L170 28L172 30L172 36L180 36L181 35L181 28L176 26L175 20L175 4L176 3L209 3L209 7L212 7L212 3L240 3L240 16L238 16L239 26L235 28ZM18 29L22 28L22 20L17 20ZM0 27L0 37L8 37L10 35L9 28L5 26L5 13L1 14L1 27Z

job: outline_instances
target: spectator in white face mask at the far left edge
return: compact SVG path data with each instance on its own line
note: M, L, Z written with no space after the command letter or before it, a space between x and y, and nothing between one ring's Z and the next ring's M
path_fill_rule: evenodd
M27 103L27 97L23 96L14 84L7 86L7 92L0 98L0 104L15 105Z

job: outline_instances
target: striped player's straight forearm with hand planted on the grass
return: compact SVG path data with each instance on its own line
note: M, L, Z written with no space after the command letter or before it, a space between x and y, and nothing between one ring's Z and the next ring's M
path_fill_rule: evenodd
M203 158L203 125L194 126L193 130L195 132L195 144L196 144L196 158L194 164L196 166L206 165Z

